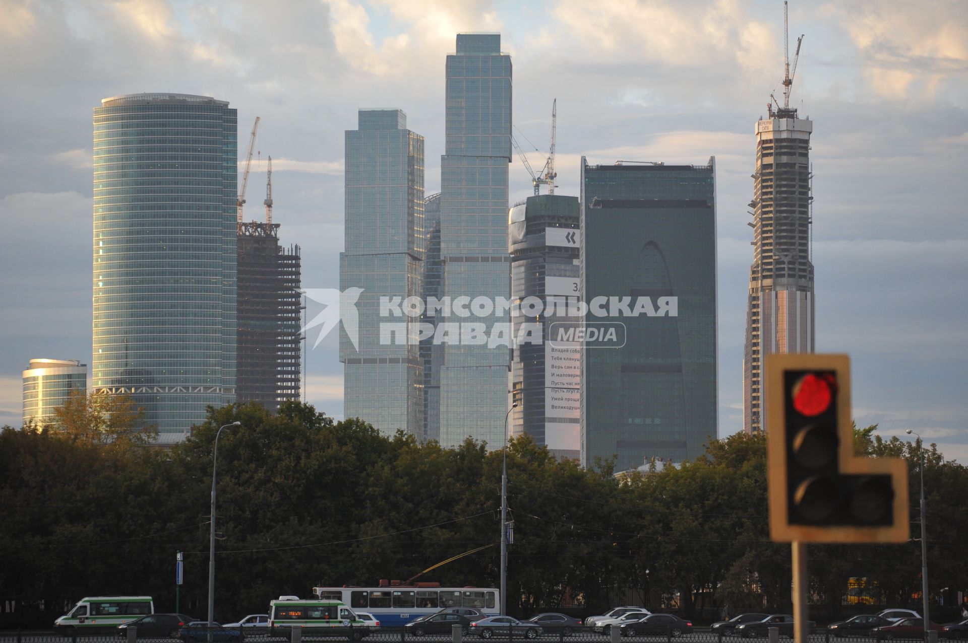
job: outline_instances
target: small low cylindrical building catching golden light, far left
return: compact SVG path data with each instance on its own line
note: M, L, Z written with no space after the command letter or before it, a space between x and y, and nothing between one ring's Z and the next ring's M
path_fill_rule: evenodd
M79 360L31 360L23 371L23 424L54 421L54 409L75 391L87 391L87 365Z

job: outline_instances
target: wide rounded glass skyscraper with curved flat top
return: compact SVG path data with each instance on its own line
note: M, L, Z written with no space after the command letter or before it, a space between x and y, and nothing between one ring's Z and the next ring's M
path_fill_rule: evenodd
M204 96L94 109L93 388L130 395L161 444L235 401L236 134Z

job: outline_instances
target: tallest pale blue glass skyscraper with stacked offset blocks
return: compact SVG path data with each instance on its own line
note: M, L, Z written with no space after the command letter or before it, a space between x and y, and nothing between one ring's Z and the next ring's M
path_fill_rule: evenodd
M445 154L440 159L443 295L506 299L511 57L499 34L458 34L447 56ZM489 331L506 312L475 317ZM440 444L468 436L492 449L504 442L509 349L448 343L440 367Z

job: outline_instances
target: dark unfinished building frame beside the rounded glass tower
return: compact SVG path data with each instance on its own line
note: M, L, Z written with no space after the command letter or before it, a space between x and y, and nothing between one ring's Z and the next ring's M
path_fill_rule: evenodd
M300 395L302 257L279 245L279 223L240 223L237 243L236 399L275 412Z

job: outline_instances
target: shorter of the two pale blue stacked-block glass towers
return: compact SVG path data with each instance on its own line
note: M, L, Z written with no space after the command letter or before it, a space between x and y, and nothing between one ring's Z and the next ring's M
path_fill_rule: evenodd
M424 253L424 139L407 129L400 109L360 109L358 129L346 132L346 251L340 289L362 289L356 300L354 346L340 334L346 416L392 435L398 428L423 437L423 367L417 341L381 337L381 326L412 317L380 314L380 298L420 297Z

